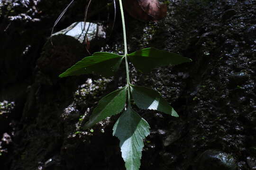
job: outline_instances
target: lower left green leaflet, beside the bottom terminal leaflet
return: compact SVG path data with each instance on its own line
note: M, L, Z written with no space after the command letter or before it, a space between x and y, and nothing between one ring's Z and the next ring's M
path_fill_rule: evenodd
M87 129L107 117L120 113L125 107L126 93L127 86L103 97L98 106L92 111L91 117L84 128Z

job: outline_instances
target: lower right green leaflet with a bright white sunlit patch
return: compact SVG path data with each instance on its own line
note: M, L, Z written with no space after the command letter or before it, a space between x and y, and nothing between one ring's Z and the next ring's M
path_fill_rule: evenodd
M140 109L158 110L179 117L174 108L155 90L131 85L132 98Z

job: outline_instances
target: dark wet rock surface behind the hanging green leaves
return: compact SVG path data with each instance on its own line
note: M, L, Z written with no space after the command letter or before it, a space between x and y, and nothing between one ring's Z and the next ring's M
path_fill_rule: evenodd
M0 6L1 170L125 170L119 141L112 136L118 116L88 130L81 128L101 97L125 85L125 67L110 79L94 75L58 79L59 72L83 57L76 54L88 55L73 40L61 48L43 48L53 25L49 23L68 1L58 8L53 8L54 1L15 2L19 5ZM142 23L126 14L128 52L155 47L193 60L155 68L147 75L130 67L132 83L159 91L180 115L135 108L151 127L140 169L255 169L256 2L168 2L167 17L157 23ZM108 14L113 17L110 9L95 14L106 3L92 3L94 16L88 19L105 23ZM20 10L8 13L8 5ZM82 0L74 2L55 29L82 21L84 6ZM106 37L104 45L90 51L123 53L119 13L117 25ZM70 43L73 47L68 49ZM8 109L11 102L4 100L15 105Z

